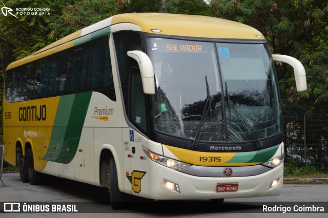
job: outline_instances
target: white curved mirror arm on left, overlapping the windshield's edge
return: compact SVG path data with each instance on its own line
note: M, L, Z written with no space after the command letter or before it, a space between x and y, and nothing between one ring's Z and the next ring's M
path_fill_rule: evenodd
M147 54L141 51L128 51L129 57L132 57L138 62L142 88L145 94L154 95L155 94L155 76L153 64Z

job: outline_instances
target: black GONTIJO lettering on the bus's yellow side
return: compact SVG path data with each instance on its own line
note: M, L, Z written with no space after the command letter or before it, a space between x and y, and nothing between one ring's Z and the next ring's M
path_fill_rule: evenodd
M42 104L19 107L18 119L19 121L45 121L47 119L47 106Z

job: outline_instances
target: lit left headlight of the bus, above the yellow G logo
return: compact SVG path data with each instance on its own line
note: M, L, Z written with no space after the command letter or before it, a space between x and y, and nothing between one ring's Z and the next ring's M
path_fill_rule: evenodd
M145 148L144 146L142 146L142 149L144 149L144 152L152 161L161 164L163 166L169 167L171 169L178 170L190 166L190 164L187 164L185 162L181 162L161 155L157 155L156 153Z

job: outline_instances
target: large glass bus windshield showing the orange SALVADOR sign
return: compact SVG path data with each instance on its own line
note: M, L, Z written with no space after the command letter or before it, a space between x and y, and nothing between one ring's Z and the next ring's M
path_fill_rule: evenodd
M242 142L281 133L279 92L265 44L148 38L157 132Z

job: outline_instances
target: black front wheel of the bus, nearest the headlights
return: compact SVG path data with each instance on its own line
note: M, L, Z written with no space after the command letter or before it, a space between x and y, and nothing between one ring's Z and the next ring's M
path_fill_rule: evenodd
M126 205L126 194L118 189L117 170L114 158L112 157L109 162L109 195L113 210L124 209Z

